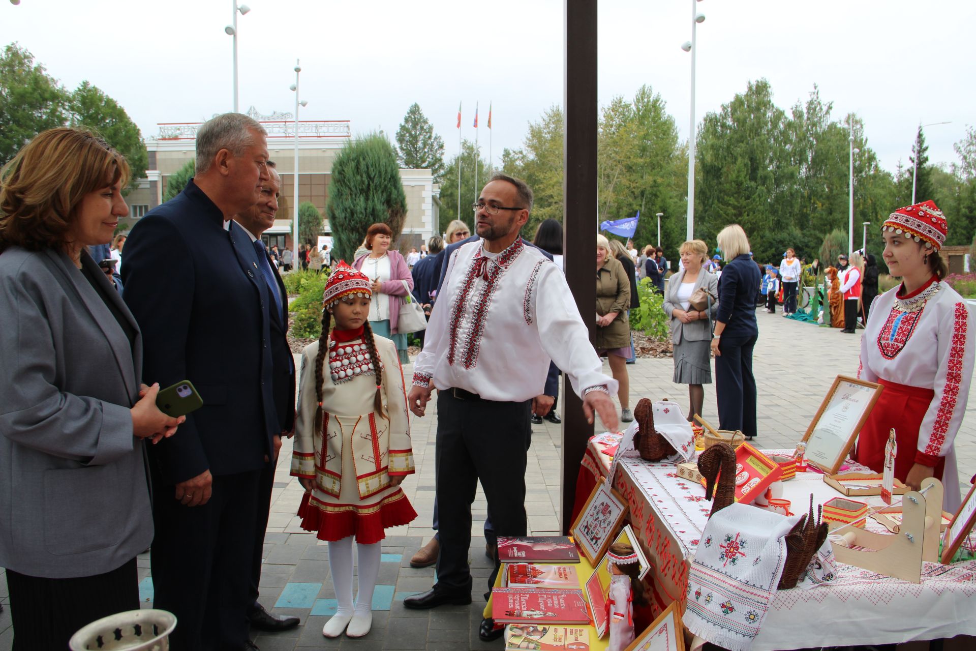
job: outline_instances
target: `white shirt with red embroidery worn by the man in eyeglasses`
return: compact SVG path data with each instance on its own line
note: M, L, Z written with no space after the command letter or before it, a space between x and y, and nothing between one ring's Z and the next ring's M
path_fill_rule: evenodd
M578 395L601 386L616 394L562 271L521 238L500 254L483 240L459 247L438 298L414 385L522 402L543 392L551 360Z

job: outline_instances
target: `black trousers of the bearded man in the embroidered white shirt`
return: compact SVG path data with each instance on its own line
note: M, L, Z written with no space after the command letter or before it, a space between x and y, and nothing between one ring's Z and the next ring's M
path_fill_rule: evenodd
M479 479L495 534L526 535L525 467L532 434L531 410L531 400L471 400L455 397L451 389L437 392L437 584L442 588L471 590L471 503ZM496 551L489 590L499 567Z

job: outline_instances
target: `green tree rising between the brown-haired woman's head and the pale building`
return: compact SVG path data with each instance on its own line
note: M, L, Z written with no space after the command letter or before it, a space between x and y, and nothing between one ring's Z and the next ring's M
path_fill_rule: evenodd
M130 189L136 186L138 179L145 178L145 170L149 166L145 142L142 142L139 127L118 102L83 81L71 94L68 107L72 127L88 127L125 156L132 171Z

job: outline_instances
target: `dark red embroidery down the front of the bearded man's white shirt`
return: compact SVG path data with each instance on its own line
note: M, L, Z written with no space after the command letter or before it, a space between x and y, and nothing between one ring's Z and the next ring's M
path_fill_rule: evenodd
M481 338L484 336L485 320L488 316L488 308L491 306L492 297L495 295L495 290L498 289L499 282L508 269L508 266L518 258L523 248L522 238L516 237L508 249L500 253L492 261L494 264L487 266L487 270L485 264L478 263L478 260L482 257L481 251L479 250L475 254L474 260L468 268L468 275L465 277L461 291L454 300L454 305L451 310L451 344L447 350L448 364L453 366L454 360L457 358L461 321L469 304L472 305L471 325L470 332L468 333L468 342L466 342L465 350L462 354L461 365L465 369L472 369L478 363L478 352L481 348ZM483 277L482 274L487 275L487 277L484 278L484 283L479 288L478 295L473 300L468 301L468 297L477 284L478 278Z

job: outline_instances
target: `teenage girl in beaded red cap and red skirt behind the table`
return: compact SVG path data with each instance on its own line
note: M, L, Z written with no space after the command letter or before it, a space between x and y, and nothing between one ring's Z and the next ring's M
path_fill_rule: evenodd
M894 427L895 476L918 490L935 476L946 488L944 508L960 495L953 442L973 374L976 331L965 302L948 284L939 249L947 224L931 201L899 208L881 226L885 264L902 284L871 305L861 337L858 377L884 386L861 429L854 459L880 472Z

